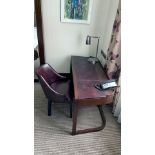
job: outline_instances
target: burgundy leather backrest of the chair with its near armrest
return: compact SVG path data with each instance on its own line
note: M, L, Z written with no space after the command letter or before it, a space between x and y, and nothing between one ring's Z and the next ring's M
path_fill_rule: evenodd
M44 94L48 99L55 99L56 95L61 95L50 86L53 82L57 81L58 73L49 64L40 66L37 69L36 74L39 78Z

